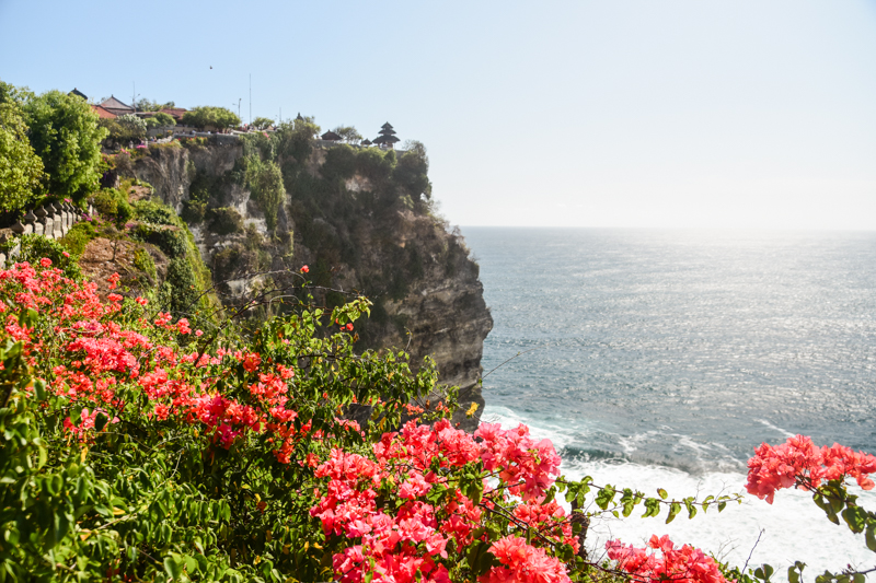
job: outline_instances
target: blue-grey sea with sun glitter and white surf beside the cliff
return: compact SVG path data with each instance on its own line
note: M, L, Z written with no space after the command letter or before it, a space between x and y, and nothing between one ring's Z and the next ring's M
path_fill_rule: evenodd
M762 442L876 453L876 233L462 231L495 319L483 420L550 438L566 476L704 498L744 492ZM715 510L595 521L588 545L669 534L809 578L876 565L806 492Z

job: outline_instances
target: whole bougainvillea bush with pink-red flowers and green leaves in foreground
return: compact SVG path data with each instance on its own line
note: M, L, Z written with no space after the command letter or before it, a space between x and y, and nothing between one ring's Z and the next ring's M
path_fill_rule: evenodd
M0 270L0 582L751 579L665 536L588 556L602 513L669 522L728 497L569 482L523 425L460 431L430 362L353 352L364 299L243 335L174 322L117 281L102 299L49 259ZM872 487L874 469L840 446L764 445L748 487L809 488L869 545L876 520L843 480Z

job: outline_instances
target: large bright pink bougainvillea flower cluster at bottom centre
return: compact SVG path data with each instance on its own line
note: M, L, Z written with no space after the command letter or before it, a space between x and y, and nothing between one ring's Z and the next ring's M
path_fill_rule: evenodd
M311 514L322 521L326 536L356 541L334 556L335 574L344 583L364 581L369 572L372 581L415 581L417 572L427 581L448 581L447 549L471 545L483 514L512 494L527 499L515 511L519 525L577 550L563 509L555 502L542 505L560 457L550 441L535 442L526 427L483 424L473 436L446 419L433 427L408 421L401 432L384 433L371 453L373 459L335 450L316 469L328 483ZM463 468L485 470L476 478L482 502L463 492L457 477ZM498 487L488 478L498 478ZM484 582L510 581L515 573L568 580L562 563L543 549L506 538L491 551L504 567L493 568Z

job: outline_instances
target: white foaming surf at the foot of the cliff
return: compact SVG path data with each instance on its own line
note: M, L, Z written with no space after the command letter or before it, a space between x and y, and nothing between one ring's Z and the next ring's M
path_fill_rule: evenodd
M552 440L557 450L572 442L572 433L562 427L533 424L506 408L487 406L484 418L505 427L526 423L533 436ZM691 451L702 452L702 445L695 444ZM664 488L676 499L744 493L746 482L745 474L739 471L713 471L695 477L676 468L619 460L564 460L562 469L570 479L591 476L596 483L634 488L649 495ZM858 503L876 510L876 491L863 492L855 486L852 489L860 494ZM861 568L876 565L876 555L867 550L863 535L853 534L844 523L837 526L828 522L811 495L799 490L782 490L772 505L745 495L741 504L728 503L721 513L712 506L693 520L688 520L682 511L670 524L665 524L666 512L662 517L641 518L642 512L644 509L629 518L595 520L588 536L593 556L601 557L606 540L611 538L644 546L650 535L668 534L677 545L694 545L733 565L741 567L747 561L749 567L770 563L779 579L785 579L787 567L795 560L807 564L804 572L807 580L826 569L840 571L850 563Z

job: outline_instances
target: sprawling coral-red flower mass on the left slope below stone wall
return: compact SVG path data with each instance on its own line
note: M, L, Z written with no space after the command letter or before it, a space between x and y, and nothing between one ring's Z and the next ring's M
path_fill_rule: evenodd
M23 263L0 270L0 292L50 322L51 337L22 324L5 304L0 303L0 312L7 312L7 335L23 341L24 353L32 360L48 351L49 342L57 343L53 350L60 351L66 364L53 368L49 386L71 408L81 408L81 419L65 420L77 438L93 438L97 411L114 411L112 418L117 422L124 408L118 392L123 384L132 383L149 399L149 417L205 425L214 443L224 448L247 432L268 431L273 435L269 442L277 446L275 457L291 462L289 452L297 440L308 436L309 425L296 430L292 424L297 413L287 407L286 397L293 381L290 369L265 366L256 353L222 349L195 363L196 352L182 352L173 342L174 335L192 334L186 318L172 323L170 314L159 313L150 322L141 311L129 329L113 319L122 310L123 296L113 293L103 302L95 283L79 284L65 278L59 269L51 269L49 259L43 259L37 271ZM116 288L118 280L117 273L111 276L110 288ZM136 303L148 304L141 298ZM245 401L218 394L215 383L207 382L209 374L228 376L234 364L253 380L246 385Z

